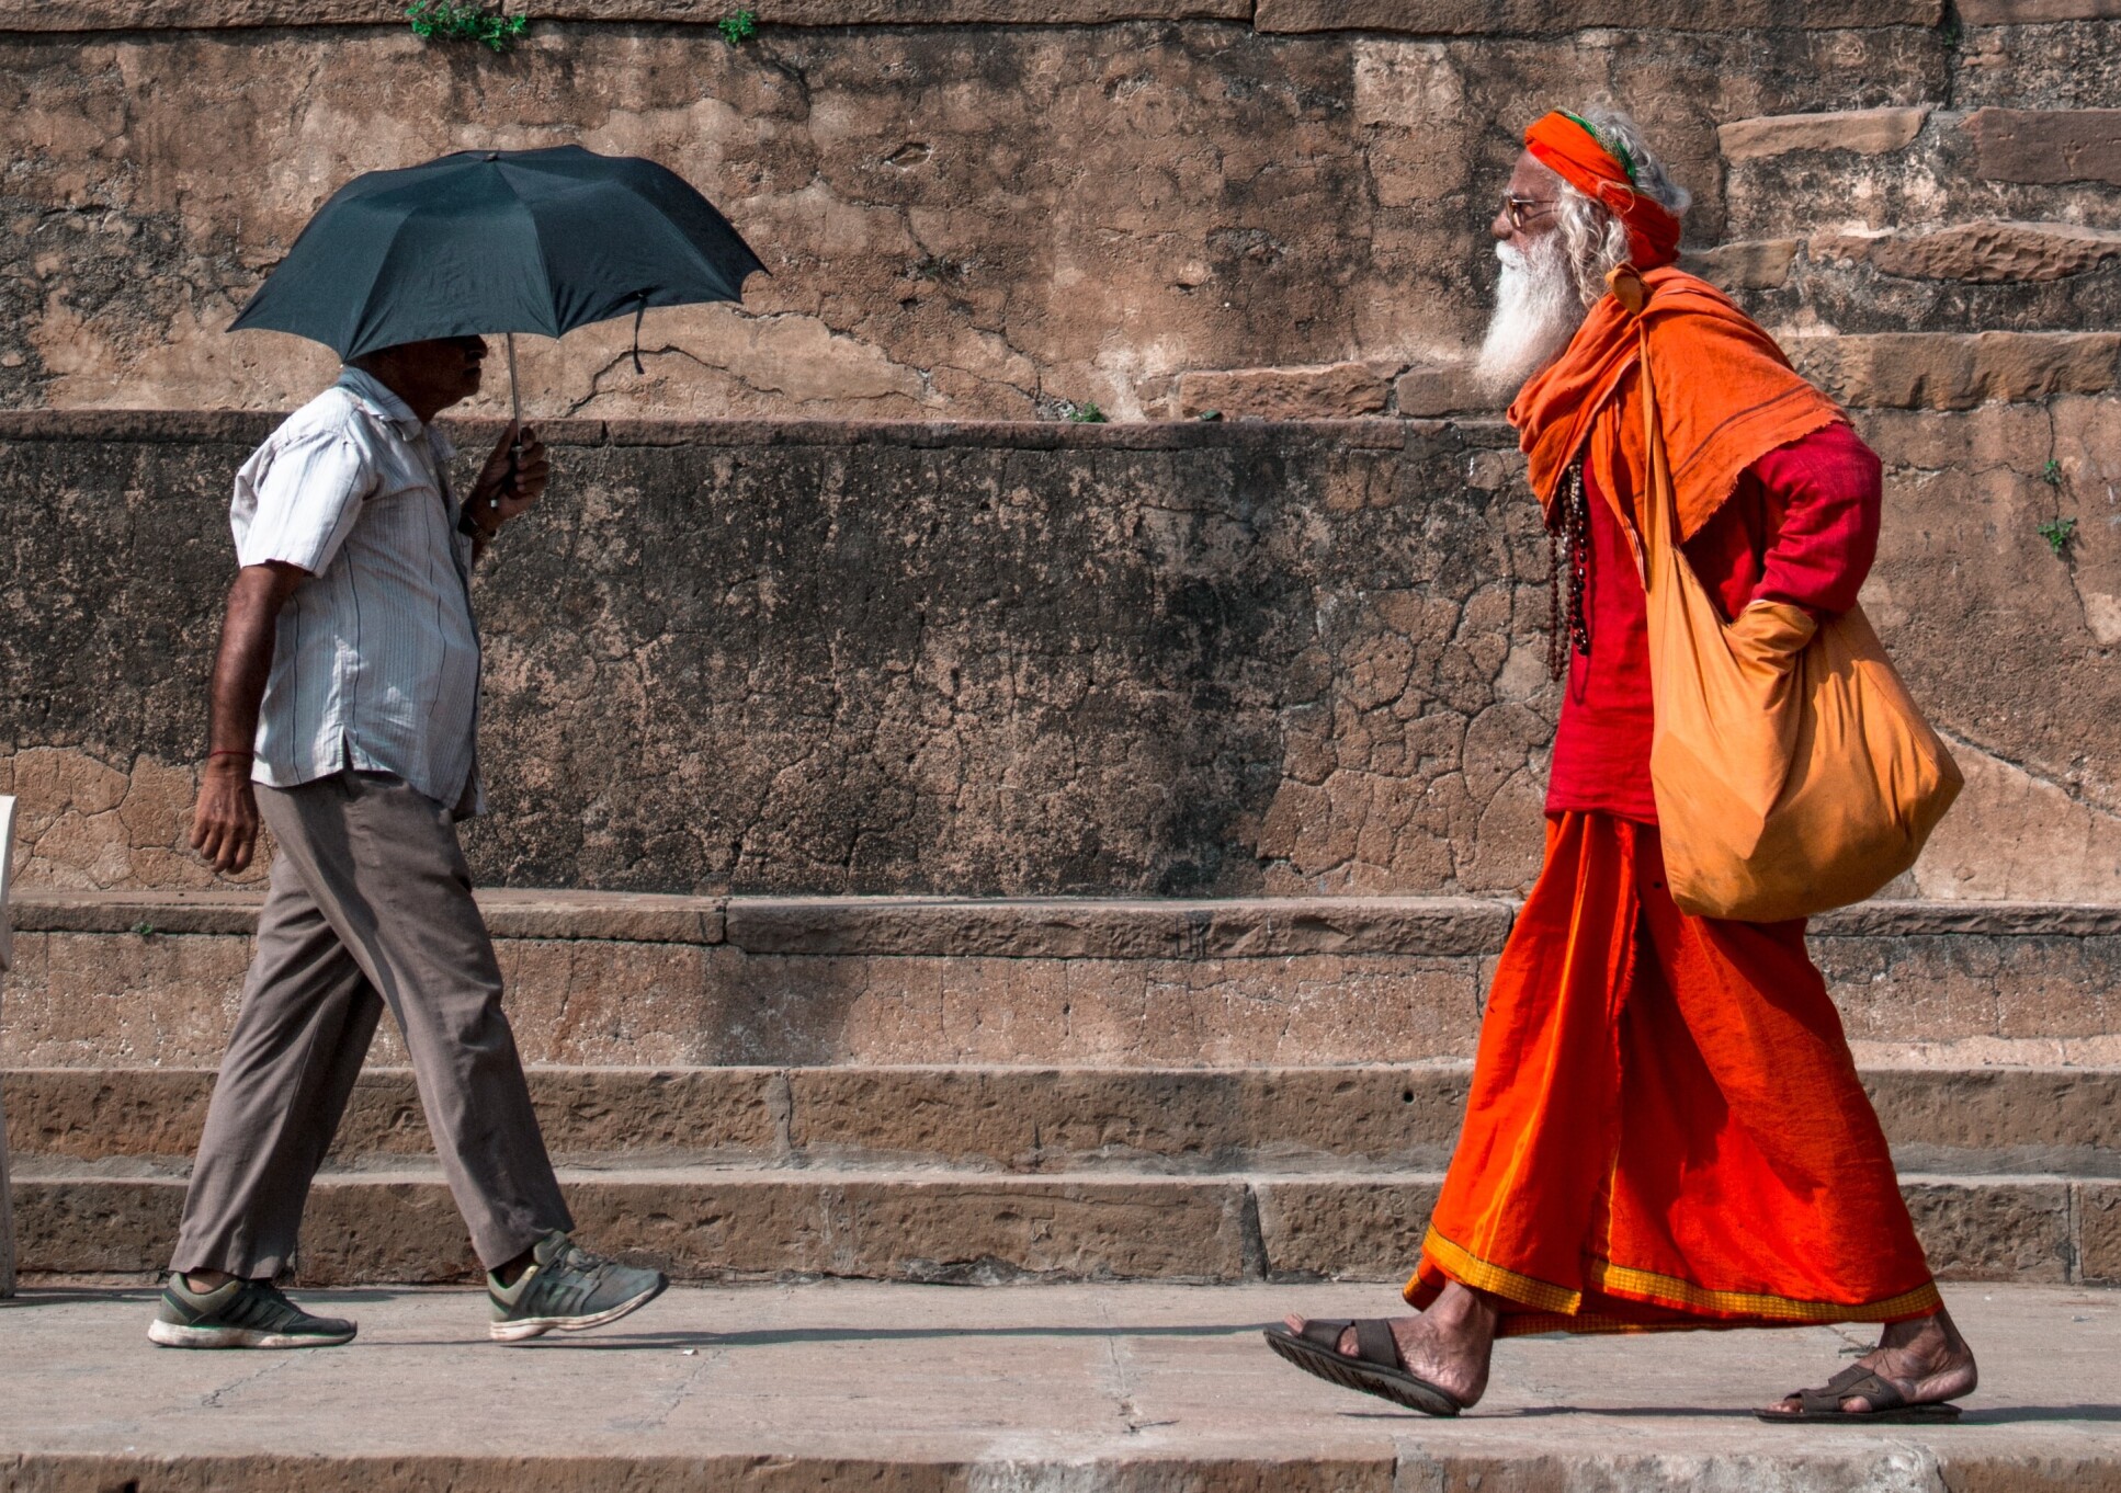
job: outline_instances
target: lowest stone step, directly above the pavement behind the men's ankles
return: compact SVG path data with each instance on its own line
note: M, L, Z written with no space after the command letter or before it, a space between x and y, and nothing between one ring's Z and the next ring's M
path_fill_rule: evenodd
M1224 1173L1010 1177L757 1166L562 1169L583 1241L687 1281L853 1277L933 1283L1258 1281L1404 1275L1440 1177ZM2121 1181L1900 1179L1943 1279L2121 1281ZM185 1183L25 1162L15 1181L28 1275L146 1277L168 1260ZM471 1279L439 1169L318 1177L297 1279Z

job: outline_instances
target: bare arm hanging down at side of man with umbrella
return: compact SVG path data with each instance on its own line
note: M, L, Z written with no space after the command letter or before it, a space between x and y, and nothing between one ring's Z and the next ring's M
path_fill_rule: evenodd
M191 848L216 872L246 870L257 848L259 804L250 791L250 744L259 734L259 706L271 677L280 609L308 575L278 560L244 566L235 573L221 615L206 772L199 780L199 806L191 816Z

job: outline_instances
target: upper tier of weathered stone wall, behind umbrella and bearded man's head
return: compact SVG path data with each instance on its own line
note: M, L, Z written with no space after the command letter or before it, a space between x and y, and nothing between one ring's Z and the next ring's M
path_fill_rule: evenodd
M526 344L539 414L1449 414L1517 129L1597 93L1780 335L1939 333L1917 403L1994 386L1964 333L2121 308L2106 0L804 0L744 47L530 8L496 57L375 0L0 4L0 403L286 407L322 354L221 329L331 189L573 140L700 182L772 276L653 314L645 377L626 324ZM2110 348L2070 369L2110 388Z

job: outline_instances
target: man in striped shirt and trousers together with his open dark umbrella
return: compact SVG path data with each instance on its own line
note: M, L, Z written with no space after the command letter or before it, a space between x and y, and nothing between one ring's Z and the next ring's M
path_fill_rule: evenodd
M354 1336L274 1277L386 1005L488 1270L490 1334L596 1328L664 1289L568 1239L456 840L479 804L471 568L545 492L545 447L513 420L458 503L433 420L479 390L479 324L558 335L734 299L753 267L734 229L647 161L458 155L348 185L238 318L327 341L346 369L235 477L242 568L191 842L240 872L263 819L278 855L155 1342ZM467 305L481 288L501 303Z

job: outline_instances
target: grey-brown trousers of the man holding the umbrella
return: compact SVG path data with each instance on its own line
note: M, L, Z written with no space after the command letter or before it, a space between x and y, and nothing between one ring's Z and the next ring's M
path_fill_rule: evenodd
M382 772L257 795L278 857L172 1268L286 1266L384 1005L479 1260L573 1230L450 812Z

